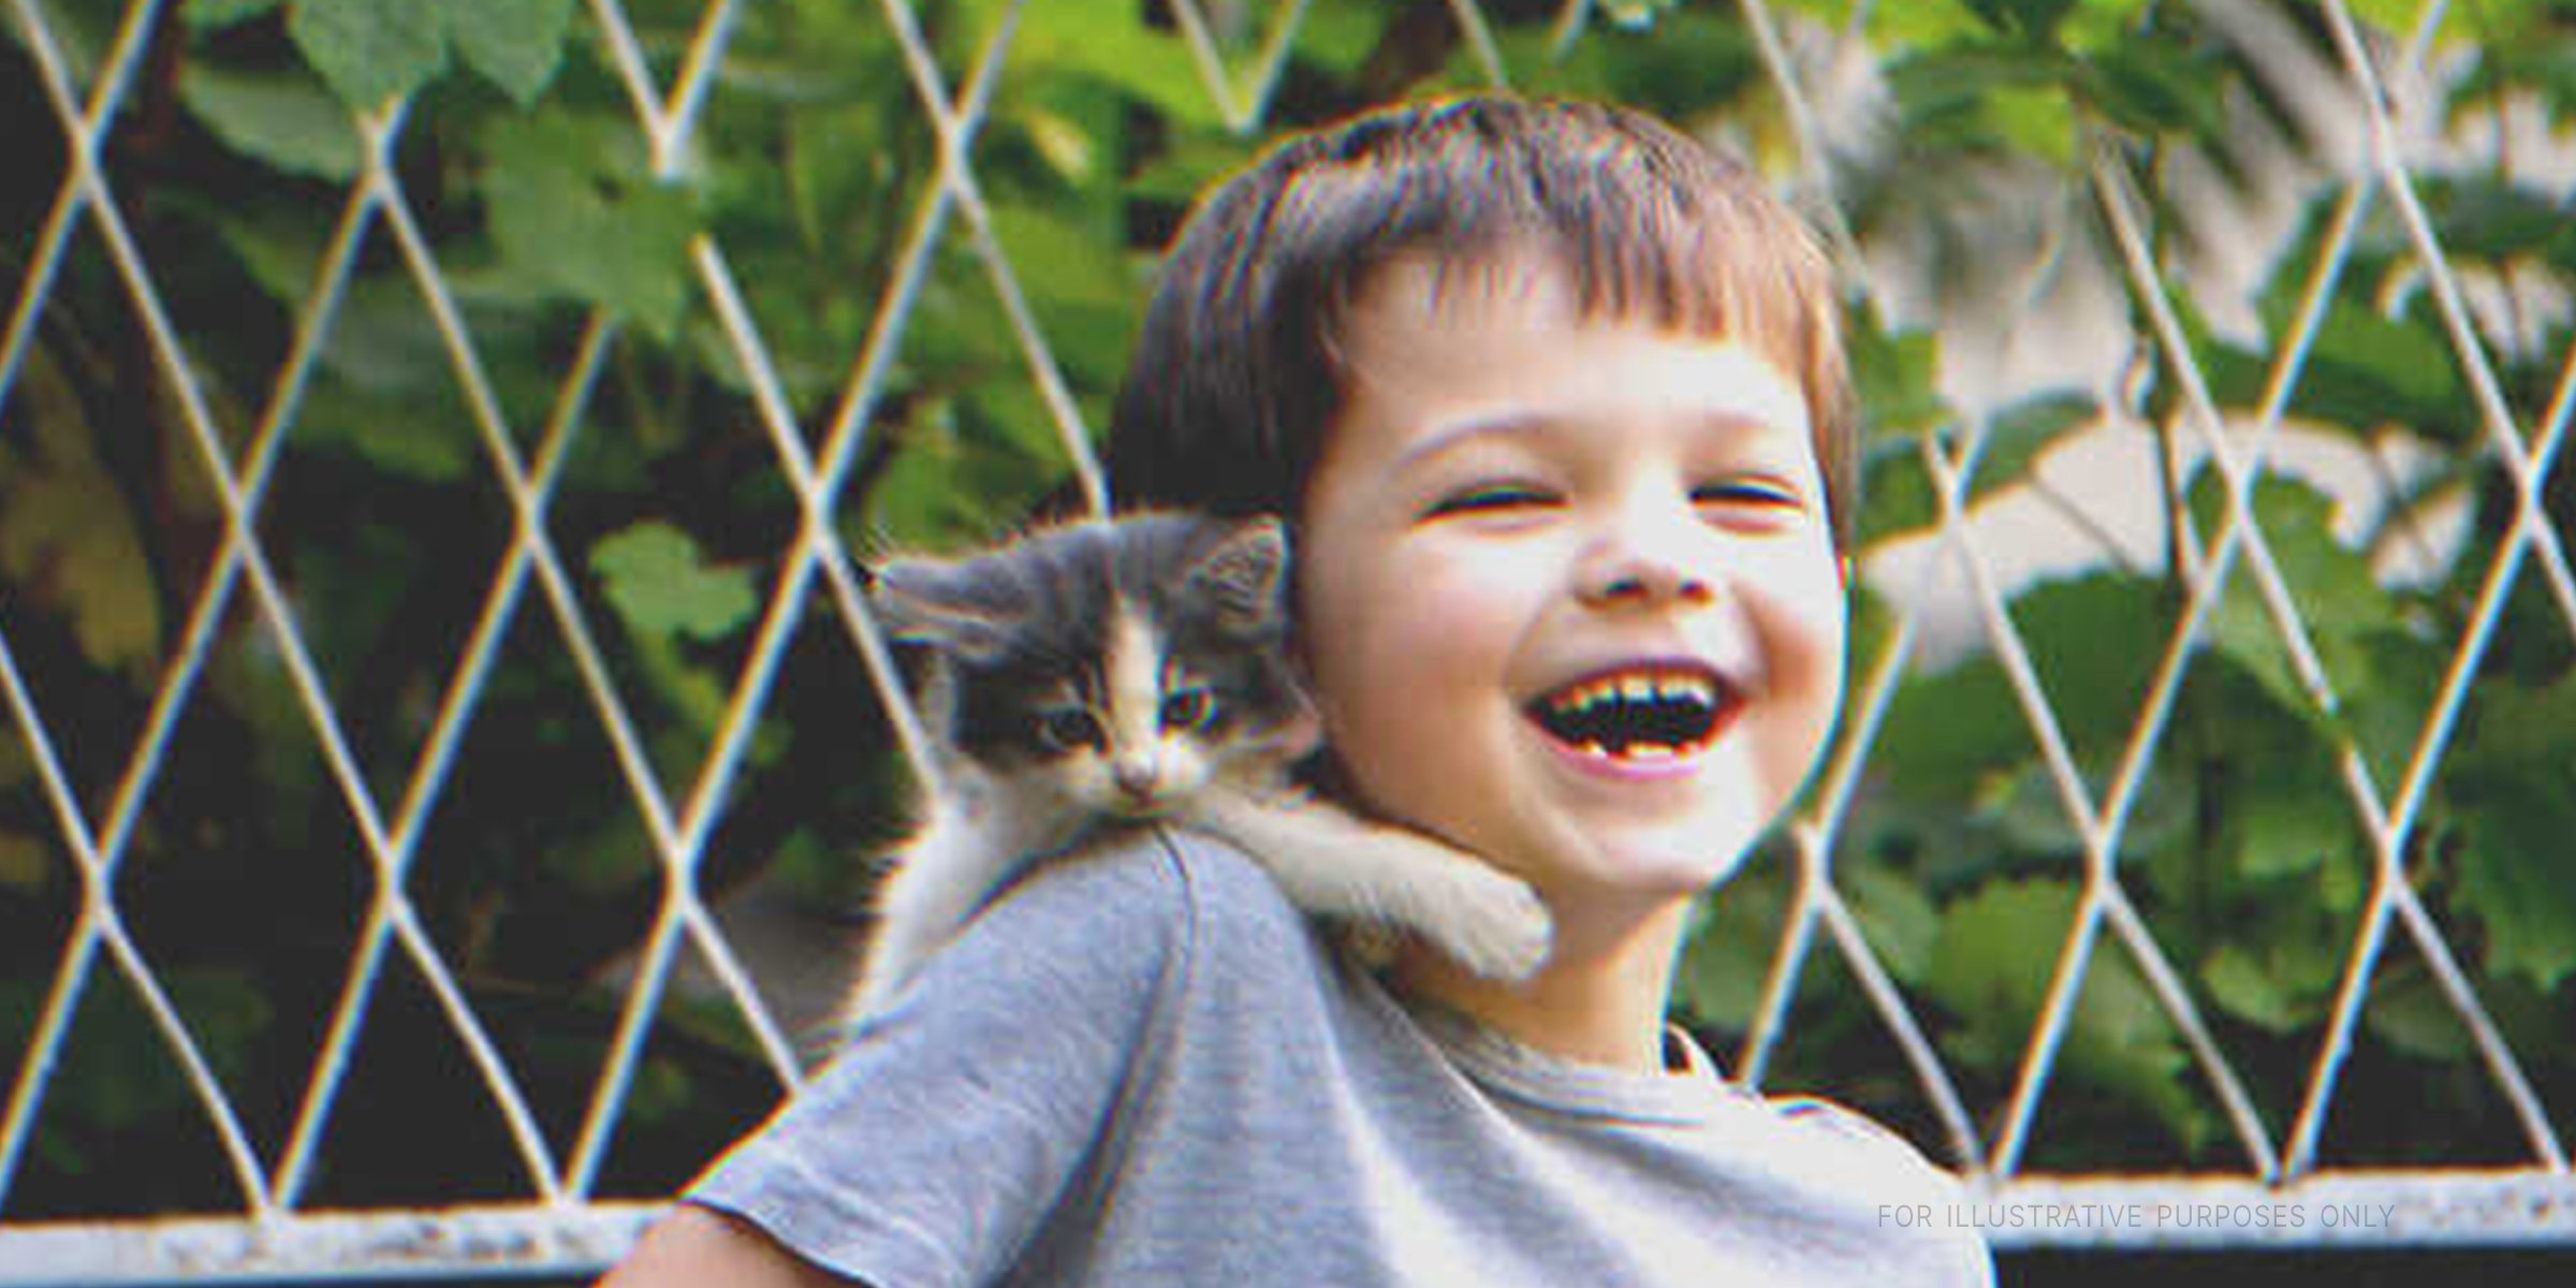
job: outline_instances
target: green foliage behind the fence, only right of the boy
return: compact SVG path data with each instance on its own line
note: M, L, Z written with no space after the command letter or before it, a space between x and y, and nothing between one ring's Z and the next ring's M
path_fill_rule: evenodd
M1806 8L1839 21L1844 5ZM2354 10L2388 23L2380 31L2414 21L2411 5ZM2576 15L2563 5L2447 13L2455 21L2442 36L2473 41L2476 70L2450 82L2439 111L2470 116L2535 93L2558 111L2555 85L2540 70L2576 49ZM2463 13L2483 26L2463 26ZM2334 64L2318 13L2285 10L2285 18L2324 64ZM1973 250L1976 232L1960 224L1981 219L1986 206L1945 209L1953 185L1991 183L1999 173L2058 175L2063 201L2097 209L2092 167L2110 165L2148 201L2172 268L2190 214L2164 183L2174 160L2195 155L2223 170L2228 131L2244 129L2246 116L2287 121L2280 88L2264 80L2257 59L2182 5L1875 5L1870 21L1893 46L1893 108L1880 155L1837 175L1844 216L1862 240L1919 219L1942 232L1914 245L1932 245L1935 255ZM2239 180L2251 183L2249 175ZM2576 268L2563 196L2535 180L2491 165L2419 173L2416 191L2437 242L2465 278L2566 281ZM2251 415L2264 402L2277 355L2298 337L2303 291L2326 252L2329 209L2339 196L2339 185L2316 183L2303 232L2272 260L2257 294L2262 335L2221 337L2197 322L2179 278L2159 283L2184 314L2190 358L2221 407ZM2079 229L2087 234L2099 237L2099 229ZM1973 255L1947 273L1978 270L1965 260ZM2514 526L2514 492L2488 451L2473 376L2455 358L2437 301L2429 291L2391 291L2391 283L2421 281L2419 265L2398 219L2385 204L2375 209L2342 260L2285 412L2303 430L2367 448L2398 428L2445 451L2409 500L2465 487L2476 518L2463 554L2429 582L2398 585L2375 572L2372 554L2416 536L2403 507L2391 507L2378 531L2336 536L2334 502L2321 492L2287 477L2254 484L2246 500L2259 520L2264 569L2251 551L2233 562L2159 737L2143 750L2146 773L2110 853L2275 1144L2311 1092L2311 1066L2336 1015L2354 940L2385 881L2365 817L2398 806L2427 742L2434 755L2421 806L2406 817L2388 858L2458 953L2522 1072L2543 1095L2563 1097L2576 1082L2576 1046L2566 1038L2576 1033L2568 1025L2576 902L2563 896L2566 881L2548 876L2563 873L2563 827L2576 822L2563 819L2566 801L2576 799L2563 706L2576 677L2566 644L2576 621L2548 603L2537 572L2522 564L2450 742L2439 744L2442 732L2429 726ZM2136 283L2128 289L2143 330L2143 296ZM1873 536L1896 536L1937 523L1919 438L1929 433L1955 446L1968 425L1937 392L1937 340L1875 332L1870 319L1855 317L1862 402L1880 435L1868 451L1862 520ZM2483 358L2496 363L2499 386L2524 425L2548 407L2568 343L2566 317L2548 319L2522 348L2494 332L2483 337ZM2138 412L2166 448L2179 435L2184 451L2197 451L2177 358L2156 348L2151 363ZM2025 484L2053 446L2112 412L2117 407L2105 407L2099 394L2048 389L1989 412L1976 425L1978 453L1963 500L1973 505ZM2202 464L2184 489L2169 549L2208 549L2228 523L2226 487ZM2545 523L2566 531L2568 489L2553 484L2543 500ZM2035 582L2009 603L2014 647L2025 649L2048 703L2048 729L2063 737L2076 804L2050 768L2043 721L1991 652L1947 670L1917 667L1870 744L1873 775L1842 827L1837 886L1865 925L1873 909L1888 907L1888 889L1932 894L1929 951L1883 951L1880 961L1935 1033L1973 1108L2002 1105L2025 1077L2025 1048L2087 889L2087 829L2071 819L2099 809L2125 757L2141 755L2133 734L2192 605L2195 580L2174 564L2110 562ZM2264 592L2262 580L2275 574L2295 623ZM1886 634L1862 631L1862 639L1855 657L1868 662ZM2324 690L2311 683L2311 665ZM1718 899L1780 904L1785 881L1783 871L1757 868L1741 881L1754 889L1739 884ZM1878 948L1899 940L1870 930ZM2107 927L2097 933L2025 1164L2241 1167L2246 1149L2197 1072L2182 1028L2146 987L2128 945ZM1685 1007L1721 1025L1744 1023L1752 1012L1747 974L1767 969L1767 953L1747 961L1731 945L1718 956L1705 938L1698 953L1726 966L1687 976ZM2362 1056L2354 1059L2365 1072L2344 1072L2324 1162L2530 1159L2532 1146L2468 1025L2401 925L2388 927L2367 997L2357 1033ZM1790 1069L1775 1079L1842 1077L1852 1087L1883 1087L1844 1072L1888 1061L1883 1043L1857 1038L1878 1020L1852 989L1837 989L1832 971L1808 971L1795 1005L1793 1033L1806 1025L1829 1038L1803 1051L1793 1038ZM1870 1095L1886 1095L1875 1100L1880 1113L1922 1123L1929 1136L1919 1097ZM2396 1105L2406 1113L2380 1113ZM2447 1139L2409 1131L2429 1105L2447 1123ZM1981 1126L1991 1139L1994 1118Z

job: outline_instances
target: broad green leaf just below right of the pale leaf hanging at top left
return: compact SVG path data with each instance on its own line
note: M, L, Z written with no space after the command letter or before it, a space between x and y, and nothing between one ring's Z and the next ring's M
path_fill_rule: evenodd
M654 183L631 126L536 113L484 131L484 201L510 270L672 340L698 216Z

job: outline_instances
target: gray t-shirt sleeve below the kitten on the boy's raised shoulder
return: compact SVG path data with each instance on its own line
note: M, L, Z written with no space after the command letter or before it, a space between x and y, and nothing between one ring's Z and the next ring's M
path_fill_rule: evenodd
M1051 863L685 1198L873 1285L989 1283L1105 1139L1188 951L1164 840Z

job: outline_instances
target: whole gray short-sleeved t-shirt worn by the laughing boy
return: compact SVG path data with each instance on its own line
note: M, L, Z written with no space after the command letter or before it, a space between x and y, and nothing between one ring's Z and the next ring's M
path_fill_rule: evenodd
M1814 1100L1566 1064L1355 969L1198 835L1051 863L690 1200L878 1288L1984 1285Z

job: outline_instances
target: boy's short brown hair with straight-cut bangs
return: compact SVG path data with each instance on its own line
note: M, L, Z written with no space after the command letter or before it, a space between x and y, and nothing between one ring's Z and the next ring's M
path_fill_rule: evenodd
M1164 263L1110 422L1121 507L1296 518L1340 412L1334 332L1401 252L1538 252L1579 307L1726 335L1806 394L1837 541L1855 412L1832 265L1734 157L1602 103L1458 98L1355 116L1206 196Z

